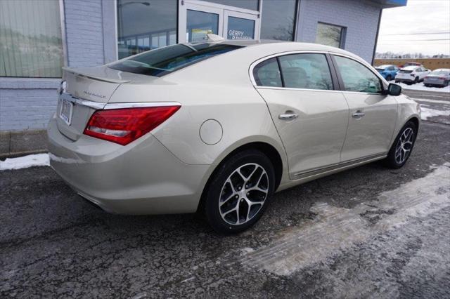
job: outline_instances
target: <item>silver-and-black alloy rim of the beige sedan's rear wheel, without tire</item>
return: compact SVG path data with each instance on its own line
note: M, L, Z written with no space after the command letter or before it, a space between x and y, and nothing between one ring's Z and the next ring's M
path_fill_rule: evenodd
M221 188L219 213L230 225L243 225L261 210L269 194L269 177L256 163L239 166Z

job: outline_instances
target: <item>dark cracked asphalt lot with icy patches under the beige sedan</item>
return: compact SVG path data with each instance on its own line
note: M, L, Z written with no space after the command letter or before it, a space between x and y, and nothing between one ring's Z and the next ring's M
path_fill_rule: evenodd
M450 298L446 121L423 122L403 168L279 192L227 237L195 215L105 213L48 167L0 171L0 297Z

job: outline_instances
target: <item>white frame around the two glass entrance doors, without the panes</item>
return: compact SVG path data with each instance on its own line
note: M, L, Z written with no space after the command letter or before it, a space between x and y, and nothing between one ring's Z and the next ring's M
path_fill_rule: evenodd
M261 10L261 1L259 0L259 10ZM205 11L206 13L216 13L219 15L219 27L217 29L219 36L226 39L226 26L228 25L228 16L255 20L255 39L259 39L261 29L261 18L259 11L215 4L201 0L179 0L178 4L178 43L186 43L186 28L188 9L193 11ZM225 29L225 30L224 30Z

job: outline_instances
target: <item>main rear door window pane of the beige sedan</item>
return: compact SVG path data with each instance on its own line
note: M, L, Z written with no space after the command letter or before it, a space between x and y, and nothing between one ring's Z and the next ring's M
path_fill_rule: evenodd
M330 68L324 54L293 54L279 58L285 87L333 89Z

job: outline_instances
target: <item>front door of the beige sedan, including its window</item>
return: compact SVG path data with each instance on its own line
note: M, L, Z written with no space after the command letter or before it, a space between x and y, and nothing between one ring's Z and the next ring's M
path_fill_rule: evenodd
M383 82L368 65L341 55L333 55L333 62L349 105L341 160L386 154L397 121L397 100L384 94Z

